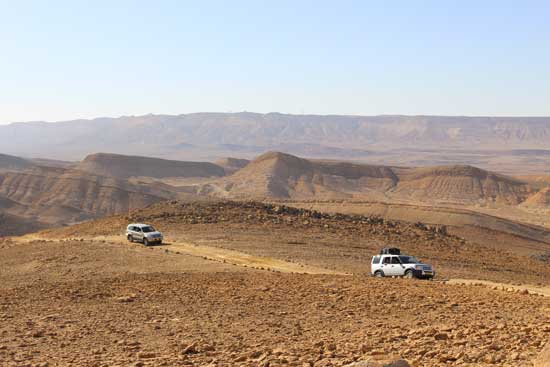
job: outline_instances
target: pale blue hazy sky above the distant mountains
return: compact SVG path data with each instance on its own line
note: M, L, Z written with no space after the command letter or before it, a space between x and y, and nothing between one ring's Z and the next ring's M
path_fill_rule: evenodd
M550 115L550 1L0 0L0 123Z

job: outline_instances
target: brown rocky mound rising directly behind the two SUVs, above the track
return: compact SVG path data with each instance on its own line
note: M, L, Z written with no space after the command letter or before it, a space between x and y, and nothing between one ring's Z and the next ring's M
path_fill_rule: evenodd
M433 264L440 278L550 284L550 263L493 246L466 241L427 226L361 215L326 214L257 202L154 204L149 208L93 222L46 231L46 237L122 235L128 222L152 223L170 240L191 241L365 274L373 254L400 247Z

